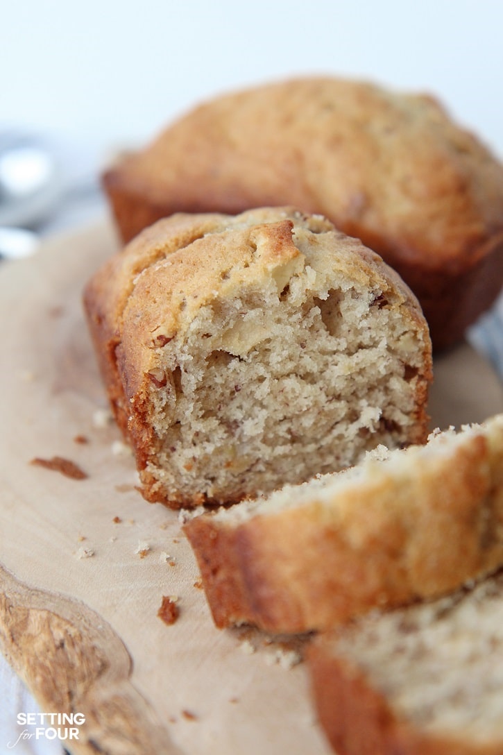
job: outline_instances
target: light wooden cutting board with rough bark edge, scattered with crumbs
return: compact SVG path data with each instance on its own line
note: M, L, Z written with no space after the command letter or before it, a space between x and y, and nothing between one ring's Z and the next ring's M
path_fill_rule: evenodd
M143 501L105 421L81 292L115 248L103 222L0 270L0 649L43 710L85 716L75 755L326 755L301 643L214 628L177 514ZM434 426L503 411L470 347L435 373ZM30 464L54 456L87 477Z

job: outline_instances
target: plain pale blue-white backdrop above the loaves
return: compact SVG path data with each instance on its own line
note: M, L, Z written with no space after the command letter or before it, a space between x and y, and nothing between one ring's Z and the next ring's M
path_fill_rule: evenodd
M501 0L0 0L0 127L90 152L297 73L437 93L503 155Z

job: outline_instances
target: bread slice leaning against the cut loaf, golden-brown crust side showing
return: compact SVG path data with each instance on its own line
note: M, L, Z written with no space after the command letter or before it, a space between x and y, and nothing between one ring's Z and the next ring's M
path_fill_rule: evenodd
M503 414L190 519L218 627L325 630L503 563Z

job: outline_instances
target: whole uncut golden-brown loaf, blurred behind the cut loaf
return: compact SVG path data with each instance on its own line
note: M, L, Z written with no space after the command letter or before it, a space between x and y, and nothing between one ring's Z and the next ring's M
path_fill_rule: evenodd
M501 291L503 167L433 97L329 77L217 97L103 185L125 240L177 211L324 214L400 273L437 349Z

